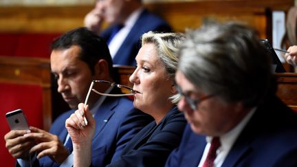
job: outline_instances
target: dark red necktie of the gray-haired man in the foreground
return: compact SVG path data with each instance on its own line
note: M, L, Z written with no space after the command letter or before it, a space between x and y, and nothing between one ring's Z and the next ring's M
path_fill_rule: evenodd
M210 149L206 157L206 161L203 164L203 167L212 167L214 165L214 159L217 157L217 149L221 146L219 137L213 137L210 144Z

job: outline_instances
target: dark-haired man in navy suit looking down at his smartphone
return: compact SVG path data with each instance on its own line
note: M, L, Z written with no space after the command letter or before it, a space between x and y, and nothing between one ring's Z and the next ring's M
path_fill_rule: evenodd
M92 80L113 82L114 78L107 44L87 28L71 30L52 43L51 68L58 92L72 110L55 120L50 133L30 127L29 132L10 131L5 135L6 146L20 166L72 166L72 140L65 120L74 113L78 103L85 102ZM94 89L120 93L106 83L96 83ZM97 122L92 140L94 166L105 166L118 157L126 142L152 120L134 110L128 98L107 98L91 92L87 105Z

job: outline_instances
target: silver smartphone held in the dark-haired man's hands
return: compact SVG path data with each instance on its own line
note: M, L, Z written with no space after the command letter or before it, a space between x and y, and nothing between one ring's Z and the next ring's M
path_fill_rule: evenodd
M28 130L28 122L21 109L10 111L5 114L10 130Z

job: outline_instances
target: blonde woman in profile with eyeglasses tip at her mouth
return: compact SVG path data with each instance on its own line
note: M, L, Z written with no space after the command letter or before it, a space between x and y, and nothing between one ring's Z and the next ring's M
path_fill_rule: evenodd
M182 41L184 35L179 33L142 35L142 47L135 58L137 68L129 80L134 84L134 107L151 115L154 121L133 137L120 156L113 156L108 166L164 166L170 152L179 145L186 121L176 106L180 95L174 80ZM89 122L87 126L82 115ZM89 109L79 104L66 127L74 144L74 166L90 166L95 121Z

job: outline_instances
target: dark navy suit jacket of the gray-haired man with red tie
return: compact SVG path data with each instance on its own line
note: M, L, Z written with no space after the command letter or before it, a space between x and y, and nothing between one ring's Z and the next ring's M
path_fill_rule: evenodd
M205 146L206 136L186 126L166 166L197 167ZM276 97L260 104L222 166L297 166L297 114Z

